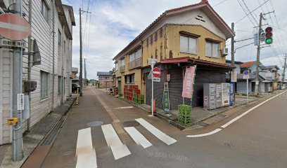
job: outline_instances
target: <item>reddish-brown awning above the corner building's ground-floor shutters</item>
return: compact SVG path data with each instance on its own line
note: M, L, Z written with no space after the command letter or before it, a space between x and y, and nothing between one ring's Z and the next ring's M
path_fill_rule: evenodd
M182 58L171 58L171 59L163 59L160 61L162 64L176 64L176 63L188 63L188 64L199 64L204 66L215 66L224 69L236 69L235 66L231 66L229 64L220 64L217 62L210 62L202 59L195 59L190 57L182 57Z

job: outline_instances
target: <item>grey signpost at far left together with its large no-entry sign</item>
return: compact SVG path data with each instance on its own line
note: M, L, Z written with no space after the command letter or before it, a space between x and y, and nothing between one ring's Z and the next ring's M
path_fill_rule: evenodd
M0 15L0 34L11 41L22 41L31 34L29 23L23 18L23 1L16 0L13 4L13 13ZM13 44L13 42L11 42ZM23 49L20 46L13 48L13 118L20 118L13 126L13 160L23 159L22 110L24 108L22 81L23 79ZM19 110L20 109L20 110ZM22 110L21 110L22 109ZM20 111L20 112L19 112Z

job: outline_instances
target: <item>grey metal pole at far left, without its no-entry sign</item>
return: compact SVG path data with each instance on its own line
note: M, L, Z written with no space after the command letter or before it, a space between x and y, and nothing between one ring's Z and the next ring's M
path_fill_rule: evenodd
M15 14L23 17L23 1L15 2ZM23 78L23 50L22 48L13 48L13 118L18 118L18 123L13 126L13 160L20 161L23 159L23 134L22 134L22 113L18 111L17 94L22 94L22 78Z

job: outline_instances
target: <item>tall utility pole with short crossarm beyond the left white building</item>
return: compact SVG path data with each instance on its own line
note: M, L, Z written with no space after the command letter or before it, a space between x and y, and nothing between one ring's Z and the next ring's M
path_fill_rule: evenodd
M91 13L89 11L84 11L81 8L79 8L79 86L80 92L79 96L82 97L82 89L83 89L83 60L82 60L82 13Z

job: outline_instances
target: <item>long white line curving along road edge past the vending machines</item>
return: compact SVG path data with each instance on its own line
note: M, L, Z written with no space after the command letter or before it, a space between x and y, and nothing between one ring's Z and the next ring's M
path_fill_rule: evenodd
M245 116L246 114L250 113L250 111L253 111L254 109L257 109L257 107L262 106L263 104L269 102L270 100L279 97L281 94L287 92L287 90L285 90L284 92L281 92L277 95L275 95L274 97L271 97L267 100L265 100L264 102L261 102L260 104L257 104L256 106L254 106L253 108L249 109L248 111L245 111L244 113L242 113L241 115L237 116L236 118L230 120L229 122L227 122L226 124L222 125L221 127L217 128L216 130L213 130L212 132L208 132L205 134L196 134L196 135L186 135L186 137L188 138L196 138L196 137L206 137L212 134L216 134L217 132L223 130L224 128L226 128L227 126L231 125L232 123L234 123L236 120L242 118L243 116Z

